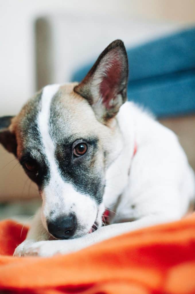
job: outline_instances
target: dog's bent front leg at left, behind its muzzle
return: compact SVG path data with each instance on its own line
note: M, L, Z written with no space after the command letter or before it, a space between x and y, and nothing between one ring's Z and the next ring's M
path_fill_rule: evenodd
M26 239L17 246L14 251L14 256L25 255L26 250L34 243L40 240L48 240L48 232L43 227L41 222L41 210L39 209L33 220L30 230L28 231Z

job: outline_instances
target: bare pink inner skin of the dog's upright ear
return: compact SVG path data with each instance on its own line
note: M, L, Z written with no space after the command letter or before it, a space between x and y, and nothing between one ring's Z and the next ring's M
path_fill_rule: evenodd
M117 56L118 57L118 56ZM118 59L112 59L107 67L106 76L100 84L100 94L102 95L102 102L106 108L112 108L110 100L117 96L118 88L121 80L122 62Z

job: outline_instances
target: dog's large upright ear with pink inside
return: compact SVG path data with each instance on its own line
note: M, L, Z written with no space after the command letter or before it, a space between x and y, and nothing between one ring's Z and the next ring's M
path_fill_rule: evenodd
M127 99L128 59L121 40L112 42L98 57L74 91L88 100L99 121L117 114Z

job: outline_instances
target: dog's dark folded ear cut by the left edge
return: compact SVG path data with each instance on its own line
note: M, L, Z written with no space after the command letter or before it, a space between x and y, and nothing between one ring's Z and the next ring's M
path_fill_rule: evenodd
M0 117L0 143L7 149L7 151L14 153L16 156L16 136L9 130L12 118L13 116Z

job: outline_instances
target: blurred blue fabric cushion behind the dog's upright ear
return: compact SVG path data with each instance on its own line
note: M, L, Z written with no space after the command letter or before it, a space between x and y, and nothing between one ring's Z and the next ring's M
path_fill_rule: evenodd
M195 113L195 28L127 50L128 100L158 117ZM75 72L81 81L93 62Z

